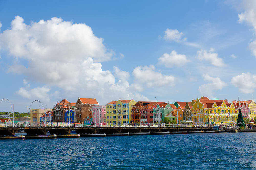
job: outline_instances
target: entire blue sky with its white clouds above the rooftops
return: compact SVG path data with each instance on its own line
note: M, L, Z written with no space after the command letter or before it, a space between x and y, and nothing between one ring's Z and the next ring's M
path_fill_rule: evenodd
M251 100L255 33L256 1L0 1L0 100Z

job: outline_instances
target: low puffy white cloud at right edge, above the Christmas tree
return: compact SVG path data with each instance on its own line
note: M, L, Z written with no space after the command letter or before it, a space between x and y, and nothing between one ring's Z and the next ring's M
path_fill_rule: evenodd
M238 87L242 93L252 93L256 87L256 75L251 73L242 73L232 77L231 83Z

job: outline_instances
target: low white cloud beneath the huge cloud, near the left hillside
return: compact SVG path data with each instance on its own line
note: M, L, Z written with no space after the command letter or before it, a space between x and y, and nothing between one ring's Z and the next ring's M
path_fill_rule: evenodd
M19 90L16 92L20 96L28 99L35 99L35 100L42 100L42 101L50 101L50 97L48 92L50 91L49 87L36 87L33 89L25 89L20 87Z

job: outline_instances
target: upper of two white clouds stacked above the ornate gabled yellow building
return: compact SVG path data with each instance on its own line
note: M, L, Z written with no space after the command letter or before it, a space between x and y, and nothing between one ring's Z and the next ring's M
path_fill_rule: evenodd
M217 67L223 67L225 66L222 58L218 57L218 53L213 53L214 49L211 48L209 51L207 50L198 50L197 51L197 57L200 61L206 60L209 61L212 65Z

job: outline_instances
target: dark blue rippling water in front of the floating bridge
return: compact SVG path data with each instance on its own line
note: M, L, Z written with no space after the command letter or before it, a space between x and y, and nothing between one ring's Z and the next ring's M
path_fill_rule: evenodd
M0 140L0 169L255 169L256 133Z

